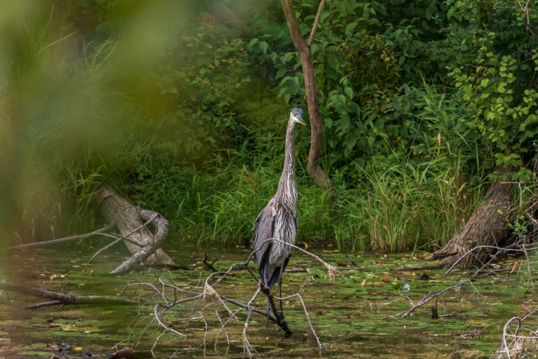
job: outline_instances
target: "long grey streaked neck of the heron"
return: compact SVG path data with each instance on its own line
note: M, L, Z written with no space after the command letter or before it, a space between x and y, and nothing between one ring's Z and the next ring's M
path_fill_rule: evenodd
M284 170L278 182L278 195L284 199L284 203L295 207L297 203L297 185L295 184L295 151L293 149L293 129L295 122L288 123L286 131L286 151L284 153Z

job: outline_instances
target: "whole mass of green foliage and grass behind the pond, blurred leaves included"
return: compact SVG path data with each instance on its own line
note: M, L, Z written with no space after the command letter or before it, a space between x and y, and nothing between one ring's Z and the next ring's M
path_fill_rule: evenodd
M317 5L295 1L304 36ZM340 210L298 129L299 239L437 248L496 166L533 179L537 5L328 0L311 51ZM306 109L279 1L13 1L0 31L1 242L87 232L100 181L177 241L249 241Z

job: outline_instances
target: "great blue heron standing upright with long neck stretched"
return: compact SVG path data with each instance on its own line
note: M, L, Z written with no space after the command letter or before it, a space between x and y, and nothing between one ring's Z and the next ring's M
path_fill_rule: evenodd
M293 151L293 129L295 123L305 124L302 119L302 109L292 109L289 114L286 131L286 151L284 155L284 170L278 182L278 191L269 204L260 212L254 222L254 237L252 248L258 250L254 259L258 262L260 280L272 289L278 281L278 296L282 298L282 272L288 265L293 248L284 243L295 244L297 235L297 184L295 184L295 169L293 168L295 153ZM278 239L278 241L267 241ZM280 301L280 318L282 300ZM267 299L267 320L269 320L269 299Z

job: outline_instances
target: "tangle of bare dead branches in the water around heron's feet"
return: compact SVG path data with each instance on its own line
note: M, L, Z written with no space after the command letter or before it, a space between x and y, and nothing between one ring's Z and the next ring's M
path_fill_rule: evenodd
M284 243L284 245L293 246L289 243L279 241L278 239L268 239L267 241L278 241L280 243ZM311 257L316 259L316 261L322 263L322 265L324 265L328 269L330 278L334 279L336 270L330 264L326 263L315 254L307 252L302 248L298 248L297 246L293 246L293 248L301 250L306 254L309 254ZM295 292L295 294L284 296L282 298L279 298L278 296L273 296L269 288L266 287L261 281L258 281L256 274L254 274L254 271L251 270L251 268L249 267L249 262L255 253L256 250L254 250L254 252L251 252L246 261L241 263L234 263L226 271L219 271L214 268L215 262L213 261L212 263L210 263L208 261L207 253L205 253L203 257L203 263L205 263L205 265L212 270L212 273L209 274L203 281L199 281L199 283L194 286L190 285L189 283L176 283L170 272L165 272L165 274L159 276L156 284L128 283L128 285L126 285L126 287L124 288L122 294L126 292L131 286L142 285L150 290L150 292L152 293L150 298L148 298L148 300L141 305L152 306L152 315L147 318L148 322L144 325L143 329L137 331L136 334L132 334L123 342L118 343L118 345L122 345L126 342L137 342L150 328L153 328L155 326L161 328L161 334L155 340L155 345L157 345L159 338L161 338L161 336L166 333L185 338L186 333L182 332L179 329L175 329L173 325L170 325L172 321L168 320L168 316L173 316L174 318L177 318L179 316L183 318L183 321L201 320L201 322L203 322L203 327L205 328L204 338L201 342L200 347L203 348L203 352L205 354L205 351L208 346L208 316L212 315L216 317L218 323L221 323L221 327L220 329L218 329L216 338L214 338L214 348L215 350L217 349L219 340L222 339L225 340L225 343L227 345L226 351L228 351L232 339L229 335L227 327L229 326L229 323L234 323L240 320L238 316L240 315L240 313L243 312L244 314L246 314L246 318L243 317L243 320L245 320L245 324L243 325L240 341L243 342L243 348L246 356L258 356L259 354L256 349L254 349L254 347L252 347L252 345L250 344L248 336L248 331L249 327L251 326L251 320L253 316L257 315L258 318L262 317L264 320L267 318L267 320L271 321L276 325L276 327L278 327L277 331L282 331L284 333L284 336L289 337L293 334L293 330L291 329L287 321L284 320L284 318L280 318L280 314L278 312L275 301L297 300L301 304L304 316L309 323L311 332L317 340L317 345L321 351L324 345L327 344L322 343L320 337L317 335L315 328L311 322L308 309L306 308L306 304L304 303L304 299L302 297L302 291L304 290L306 285L314 281L314 278L311 277L307 279L298 288L298 291ZM226 277L236 270L246 270L251 279L253 279L253 283L258 283L256 292L254 292L251 298L249 298L249 300L247 301L229 298L228 296L225 296L221 293L220 287L223 283L225 283ZM260 310L255 305L255 301L258 296L260 296L260 294L262 294L269 300L272 312L272 314L269 316L267 316L265 310Z

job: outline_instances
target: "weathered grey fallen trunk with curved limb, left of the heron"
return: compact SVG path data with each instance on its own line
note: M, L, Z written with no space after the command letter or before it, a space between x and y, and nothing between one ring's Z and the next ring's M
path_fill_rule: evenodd
M161 230L157 230L157 234L154 235L144 225L145 221L148 221L151 217L151 211L140 210L140 208L128 203L125 199L117 195L112 188L106 184L100 184L99 188L102 190L96 195L96 202L98 203L100 213L104 219L117 226L117 230L122 237L128 237L129 239L140 243L140 246L136 246L133 243L124 241L128 250L133 253L133 257L140 257L143 251L148 252L150 248L155 247L157 244L157 250L154 250L149 257L147 257L146 263L164 263L173 264L174 261L168 255L159 248L160 243L164 240L164 237L168 235L168 222L164 217L156 214L161 222L159 224ZM164 219L164 221L163 221ZM142 226L142 228L140 228ZM137 230L137 228L140 228ZM129 236L131 232L135 231ZM142 259L143 261L144 259ZM135 264L137 264L138 261Z

